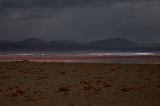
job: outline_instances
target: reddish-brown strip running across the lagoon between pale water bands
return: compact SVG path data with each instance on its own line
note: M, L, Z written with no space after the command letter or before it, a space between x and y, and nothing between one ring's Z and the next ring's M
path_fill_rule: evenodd
M138 55L138 56L59 56L59 55L12 55L0 56L0 59L160 59L160 55Z

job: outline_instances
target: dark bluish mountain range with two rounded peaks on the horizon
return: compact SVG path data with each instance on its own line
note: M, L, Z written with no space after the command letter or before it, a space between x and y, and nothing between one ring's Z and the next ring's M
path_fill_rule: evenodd
M160 51L160 44L137 44L125 38L110 38L78 43L74 41L44 41L29 38L22 41L0 40L0 51L57 51L57 50L108 50L108 51Z

